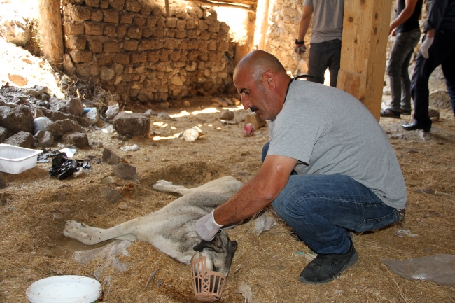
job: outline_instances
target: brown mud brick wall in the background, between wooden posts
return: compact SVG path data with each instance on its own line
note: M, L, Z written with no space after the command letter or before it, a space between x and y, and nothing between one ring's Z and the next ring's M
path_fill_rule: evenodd
M64 69L124 101L225 92L229 27L197 3L64 0Z

